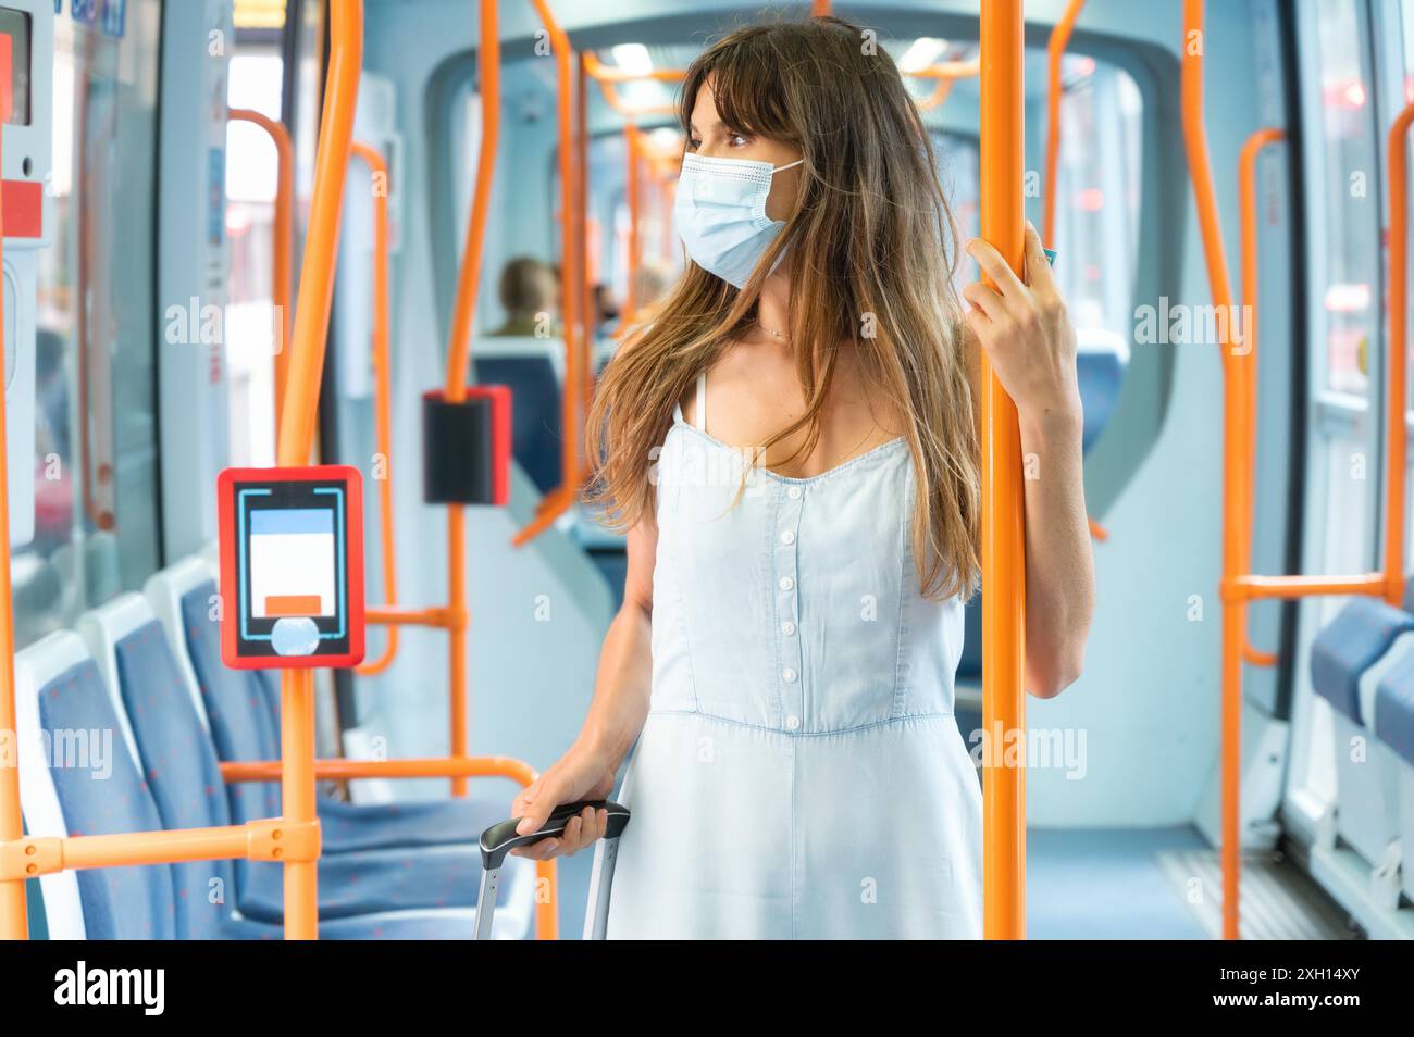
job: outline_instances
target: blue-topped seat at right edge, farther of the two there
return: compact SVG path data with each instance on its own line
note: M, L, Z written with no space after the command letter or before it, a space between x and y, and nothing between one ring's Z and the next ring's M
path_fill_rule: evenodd
M1311 684L1331 704L1336 832L1372 865L1390 860L1398 836L1398 783L1389 750L1372 737L1380 680L1414 650L1414 616L1357 598L1315 637Z

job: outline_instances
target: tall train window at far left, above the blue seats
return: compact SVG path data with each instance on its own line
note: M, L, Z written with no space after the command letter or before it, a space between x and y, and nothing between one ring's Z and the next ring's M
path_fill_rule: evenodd
M158 562L153 311L158 0L126 32L54 20L54 244L40 251L35 538L14 554L20 646ZM11 473L18 478L18 473Z

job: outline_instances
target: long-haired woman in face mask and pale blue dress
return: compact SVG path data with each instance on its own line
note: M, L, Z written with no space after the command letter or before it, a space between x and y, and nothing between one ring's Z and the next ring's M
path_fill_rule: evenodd
M977 343L1021 421L1027 685L1080 672L1093 572L1075 333L1027 281L953 294L952 220L898 71L836 18L744 28L689 69L689 263L608 366L597 487L624 608L575 745L520 831L621 798L611 937L980 937L981 802L952 716L977 585ZM604 834L585 810L523 856Z

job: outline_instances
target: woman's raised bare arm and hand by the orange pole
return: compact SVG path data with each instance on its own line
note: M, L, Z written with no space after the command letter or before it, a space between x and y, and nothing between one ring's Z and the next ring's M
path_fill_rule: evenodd
M1035 227L1027 225L1027 283L976 240L969 253L995 288L970 284L967 326L1017 404L1027 507L1027 689L1059 695L1080 675L1094 613L1082 472L1075 329Z

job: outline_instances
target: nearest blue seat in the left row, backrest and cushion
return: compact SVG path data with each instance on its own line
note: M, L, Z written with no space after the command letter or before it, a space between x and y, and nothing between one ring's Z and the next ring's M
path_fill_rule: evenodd
M130 728L83 640L59 630L16 654L20 791L34 836L119 835L163 829L141 776ZM178 876L180 869L187 873ZM180 896L181 879L198 882ZM279 940L269 921L230 903L232 862L64 870L40 876L51 940ZM191 904L209 906L192 911ZM194 917L195 915L195 917ZM191 930L189 923L204 923ZM472 910L407 910L321 921L322 940L467 940ZM493 935L516 937L496 914Z

